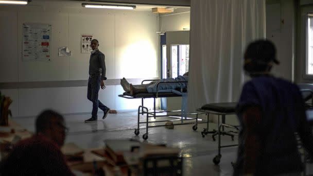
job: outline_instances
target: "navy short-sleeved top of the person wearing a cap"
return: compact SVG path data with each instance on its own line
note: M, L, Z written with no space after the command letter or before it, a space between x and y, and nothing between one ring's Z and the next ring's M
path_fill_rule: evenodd
M260 143L255 175L301 172L303 168L294 133L298 132L310 156L313 156L313 137L299 88L280 78L260 76L244 85L238 102L241 131L234 175L243 171L246 127L242 112L249 107L259 107L262 113L255 129Z

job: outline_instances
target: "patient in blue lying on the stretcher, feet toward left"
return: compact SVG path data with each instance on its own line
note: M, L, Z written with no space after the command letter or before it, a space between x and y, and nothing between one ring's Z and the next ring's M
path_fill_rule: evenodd
M177 78L166 78L160 79L156 81L151 81L148 84L138 84L132 85L125 78L120 79L120 85L123 87L125 92L130 93L131 95L135 95L138 93L154 93L160 90L186 90L187 83L178 82L178 81L188 81L188 72L186 72L183 76L178 76ZM178 82L178 83L162 83L159 82ZM158 90L156 90L158 89Z

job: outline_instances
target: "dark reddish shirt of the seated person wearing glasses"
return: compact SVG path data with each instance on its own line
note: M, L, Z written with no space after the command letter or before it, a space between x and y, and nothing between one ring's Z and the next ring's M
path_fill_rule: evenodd
M1 162L0 175L74 175L55 142L34 135L16 144Z

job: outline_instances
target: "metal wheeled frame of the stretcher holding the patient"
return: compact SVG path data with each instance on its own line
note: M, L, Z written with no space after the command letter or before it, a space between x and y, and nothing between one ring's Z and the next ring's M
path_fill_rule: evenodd
M156 80L159 80L159 79L143 80L142 84L145 81L156 81ZM187 81L159 82L158 84L156 84L156 90L158 90L160 85L165 84L165 83L187 83ZM183 90L181 89L180 92L183 93ZM148 129L149 128L166 126L166 125L149 126L149 123L158 123L158 122L179 121L179 120L181 120L180 124L173 124L173 126L195 124L192 127L192 129L194 131L196 131L198 129L198 124L204 124L205 123L205 122L198 122L198 115L199 114L204 114L204 113L187 113L186 114L186 115L196 115L195 118L187 118L187 117L185 117L185 119L183 119L183 117L181 117L181 119L149 121L149 118L151 118L151 117L153 117L155 119L156 117L170 117L170 116L182 115L181 114L181 110L177 110L177 111L158 111L158 112L156 112L156 110L155 110L155 99L156 98L182 97L182 95L179 95L179 94L157 91L156 93L143 93L143 94L135 94L135 95L130 95L130 94L124 95L123 94L123 95L118 95L118 96L119 97L123 97L123 98L127 98L127 99L137 99L137 98L141 98L142 99L142 105L140 105L138 107L137 129L135 129L134 133L135 133L135 135L139 135L140 134L140 124L146 124L146 133L143 135L143 139L144 140L148 139ZM153 98L153 112L149 112L148 108L144 106L144 99L145 98ZM176 112L177 114L157 115L158 113L168 113L168 112ZM146 121L140 121L140 114L142 114L142 115L147 114ZM196 122L183 122L184 120L196 120Z

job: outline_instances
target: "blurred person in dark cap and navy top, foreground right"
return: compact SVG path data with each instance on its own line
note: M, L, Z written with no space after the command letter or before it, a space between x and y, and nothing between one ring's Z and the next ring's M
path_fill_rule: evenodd
M242 87L237 104L241 128L234 175L301 175L295 133L310 157L313 136L298 86L270 74L280 62L269 40L250 43L244 63L251 80Z

